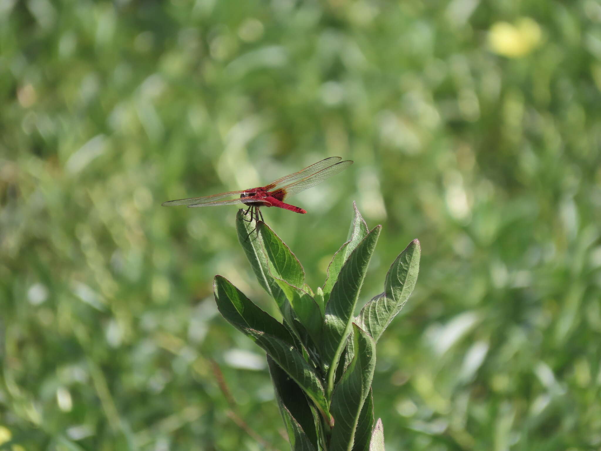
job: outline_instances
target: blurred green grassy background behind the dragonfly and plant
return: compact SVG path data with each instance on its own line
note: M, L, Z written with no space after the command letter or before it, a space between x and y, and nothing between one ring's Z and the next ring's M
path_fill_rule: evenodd
M215 274L273 311L236 208L160 203L333 155L307 215L264 215L315 288L356 200L362 302L421 241L378 343L388 448L597 449L600 90L596 0L0 0L4 449L286 449L216 314Z

